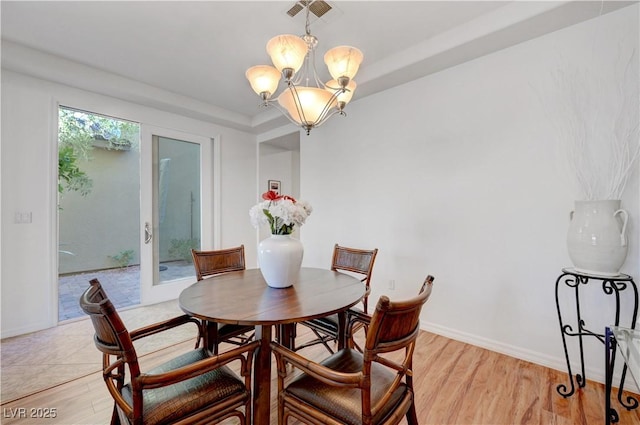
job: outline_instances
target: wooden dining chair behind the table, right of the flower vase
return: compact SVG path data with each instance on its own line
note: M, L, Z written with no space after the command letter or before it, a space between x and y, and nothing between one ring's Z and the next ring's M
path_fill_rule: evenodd
M360 278L365 286L365 294L362 298L362 306L365 313L368 311L369 294L371 293L371 274L373 272L373 264L378 255L378 248L372 250L348 248L335 244L333 248L333 258L331 260L331 270L346 272ZM357 307L351 310L359 310ZM340 333L338 315L332 314L326 317L307 320L301 322L302 325L311 329L315 334L315 338L296 346L294 349L301 350L317 344L322 344L330 352L334 350L329 345L335 343Z

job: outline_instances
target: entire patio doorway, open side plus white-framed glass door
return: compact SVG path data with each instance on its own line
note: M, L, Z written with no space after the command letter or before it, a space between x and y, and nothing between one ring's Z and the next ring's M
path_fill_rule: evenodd
M213 141L93 112L58 114L58 320L97 278L116 308L177 298L213 244Z

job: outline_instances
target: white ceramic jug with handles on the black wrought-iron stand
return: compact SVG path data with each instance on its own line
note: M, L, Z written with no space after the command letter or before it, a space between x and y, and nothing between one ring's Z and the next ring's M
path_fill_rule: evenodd
M627 212L619 200L576 201L567 234L575 270L617 276L627 258Z

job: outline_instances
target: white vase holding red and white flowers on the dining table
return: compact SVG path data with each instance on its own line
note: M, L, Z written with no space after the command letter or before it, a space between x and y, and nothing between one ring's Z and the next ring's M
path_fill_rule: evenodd
M304 248L290 235L271 235L258 244L258 264L272 288L287 288L298 281Z

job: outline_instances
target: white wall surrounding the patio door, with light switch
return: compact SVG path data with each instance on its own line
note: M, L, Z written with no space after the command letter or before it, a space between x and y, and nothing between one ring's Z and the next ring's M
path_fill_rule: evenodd
M44 64L46 66L46 64ZM106 77L105 77L106 78ZM221 246L244 243L255 262L255 136L71 87L2 71L2 337L57 323L57 103L219 139ZM207 188L213 190L213 188ZM15 224L16 212L32 212ZM87 235L90 237L91 235Z

